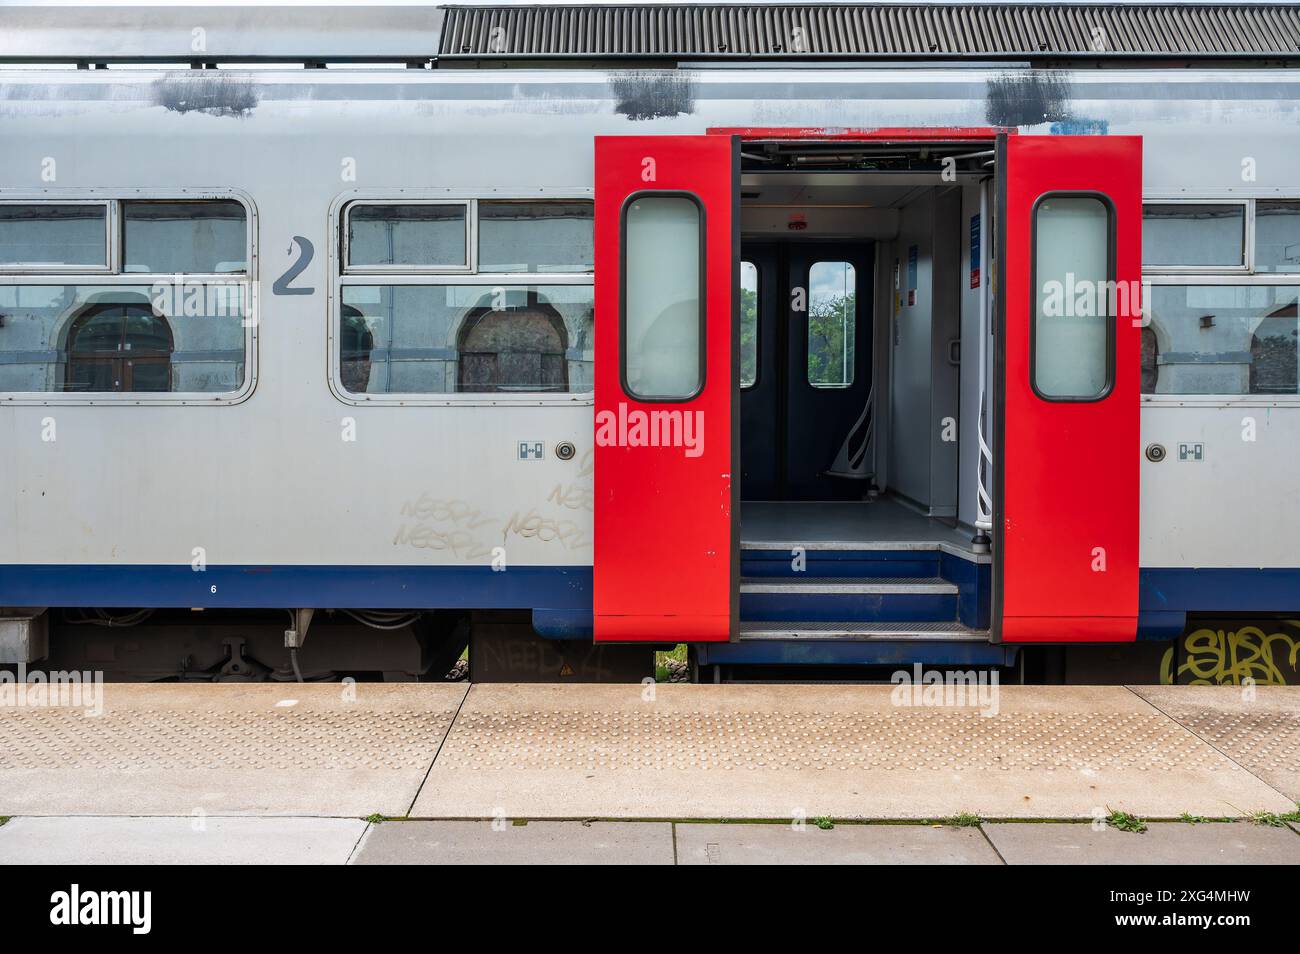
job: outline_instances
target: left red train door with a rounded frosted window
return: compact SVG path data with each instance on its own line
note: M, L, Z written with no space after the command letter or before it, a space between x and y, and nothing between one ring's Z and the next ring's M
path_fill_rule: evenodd
M736 630L738 182L734 136L595 139L598 642Z

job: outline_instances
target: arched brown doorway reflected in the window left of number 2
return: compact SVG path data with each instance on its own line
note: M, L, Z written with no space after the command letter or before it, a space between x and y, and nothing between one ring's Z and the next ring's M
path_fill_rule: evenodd
M172 390L172 329L146 303L87 305L66 347L65 391Z

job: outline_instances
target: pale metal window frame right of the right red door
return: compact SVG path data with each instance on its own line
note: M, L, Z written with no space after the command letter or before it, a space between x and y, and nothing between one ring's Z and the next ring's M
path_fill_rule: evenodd
M1208 205L1216 201L1247 203L1247 247L1248 259L1245 269L1232 268L1196 268L1169 269L1165 266L1148 266L1143 263L1143 294L1147 295L1147 286L1156 285L1227 285L1227 286L1278 286L1300 285L1300 272L1256 272L1254 270L1254 204L1257 200L1271 201L1300 201L1300 192L1291 190L1240 190L1231 196L1222 192L1206 192L1204 195L1179 191L1148 191L1143 194L1143 205L1167 205L1186 201L1192 205ZM1144 302L1149 309L1150 303ZM1149 317L1149 311L1144 318ZM1144 321L1143 326L1150 322ZM1140 394L1141 406L1150 407L1204 407L1204 408L1235 408L1235 407L1300 407L1300 394L1295 395L1264 395L1264 394Z

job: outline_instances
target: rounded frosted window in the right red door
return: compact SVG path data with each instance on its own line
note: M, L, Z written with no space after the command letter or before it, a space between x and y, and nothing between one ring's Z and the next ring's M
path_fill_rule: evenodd
M1046 400L1100 400L1114 377L1114 214L1097 195L1034 207L1030 376Z

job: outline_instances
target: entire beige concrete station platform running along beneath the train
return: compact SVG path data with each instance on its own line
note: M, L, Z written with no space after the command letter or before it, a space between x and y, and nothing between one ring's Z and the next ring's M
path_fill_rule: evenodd
M1170 825L1144 853L1167 841L1176 854L1195 841L1178 821L1202 819L1232 823L1222 828L1231 857L1300 860L1288 821L1300 801L1297 688L1001 686L927 701L844 685L109 684L51 702L18 698L0 719L6 858L40 832L60 844L61 831L81 860L112 855L117 838L208 860L247 850L260 828L264 860L277 845L296 859L317 844L322 860L438 860L508 825L530 834L494 845L538 860L664 845L679 860L814 845L827 859L1013 860L1057 842L1086 860L1126 850L1104 833L1124 812ZM608 825L593 833L582 820ZM694 827L706 820L762 824L715 837ZM1028 820L1087 824L1000 828ZM858 831L890 821L909 831ZM918 821L953 832L922 834ZM783 827L841 833L794 842ZM74 837L87 831L103 837Z

